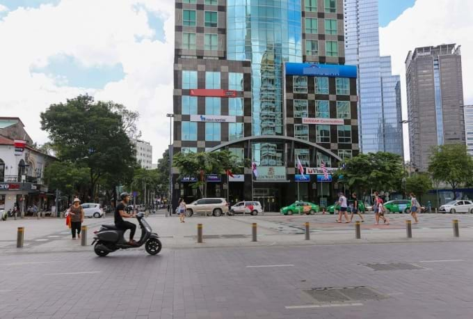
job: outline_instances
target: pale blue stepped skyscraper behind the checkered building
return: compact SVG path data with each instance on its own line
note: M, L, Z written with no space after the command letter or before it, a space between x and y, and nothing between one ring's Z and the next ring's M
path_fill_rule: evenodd
M358 66L358 121L362 153L403 156L399 75L379 54L378 0L344 0L346 63Z

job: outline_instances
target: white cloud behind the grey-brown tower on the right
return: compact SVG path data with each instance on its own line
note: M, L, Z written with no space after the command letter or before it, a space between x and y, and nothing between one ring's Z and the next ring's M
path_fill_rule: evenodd
M416 47L447 43L461 45L464 102L473 104L472 13L471 0L417 0L412 8L380 28L380 53L392 56L393 72L401 75L403 118L407 118L404 61L409 50ZM404 128L404 149L408 154L407 126Z

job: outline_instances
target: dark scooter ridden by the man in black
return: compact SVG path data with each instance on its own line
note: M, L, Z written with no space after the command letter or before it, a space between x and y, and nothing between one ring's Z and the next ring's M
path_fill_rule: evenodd
M95 254L100 257L105 257L115 250L137 248L143 246L143 244L145 244L145 249L148 254L158 254L163 245L159 240L159 235L152 233L151 226L144 217L145 214L143 212L136 214L136 219L138 219L138 224L141 228L141 238L136 244L129 244L129 242L125 241L125 238L123 238L123 233L125 232L118 229L114 224L102 225L99 231L94 232L95 237L92 245L95 244Z

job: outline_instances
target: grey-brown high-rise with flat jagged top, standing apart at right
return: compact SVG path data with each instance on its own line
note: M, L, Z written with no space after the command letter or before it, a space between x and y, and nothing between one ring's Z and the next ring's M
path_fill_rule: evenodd
M460 46L410 51L406 85L410 160L425 171L432 146L465 143Z

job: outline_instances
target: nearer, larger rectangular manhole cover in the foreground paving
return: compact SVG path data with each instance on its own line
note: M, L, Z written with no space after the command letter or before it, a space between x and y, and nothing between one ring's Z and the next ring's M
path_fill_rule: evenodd
M365 286L312 288L303 291L317 302L353 302L387 298L373 288Z

